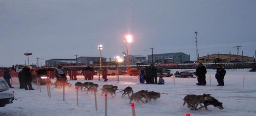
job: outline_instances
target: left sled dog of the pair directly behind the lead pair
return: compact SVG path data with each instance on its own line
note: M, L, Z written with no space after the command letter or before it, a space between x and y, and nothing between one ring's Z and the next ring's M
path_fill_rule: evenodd
M142 98L145 98L145 99L148 99L148 90L145 91L145 90L141 90L139 92L136 92L136 93L133 93L130 97L130 104L131 102L134 100L134 101L142 101ZM145 102L148 102L147 100ZM144 101L142 101L142 103L145 103Z

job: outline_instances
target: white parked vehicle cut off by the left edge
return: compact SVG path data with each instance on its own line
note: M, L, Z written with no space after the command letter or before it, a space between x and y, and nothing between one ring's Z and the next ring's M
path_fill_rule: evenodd
M8 89L7 83L0 79L0 107L11 104L14 100L14 92Z

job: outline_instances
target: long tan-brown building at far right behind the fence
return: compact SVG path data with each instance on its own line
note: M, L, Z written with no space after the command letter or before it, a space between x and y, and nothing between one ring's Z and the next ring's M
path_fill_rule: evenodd
M250 62L253 61L253 57L242 56L242 55L231 55L231 54L212 54L198 58L201 63L214 63L216 62L232 62L235 59L241 59L242 61Z

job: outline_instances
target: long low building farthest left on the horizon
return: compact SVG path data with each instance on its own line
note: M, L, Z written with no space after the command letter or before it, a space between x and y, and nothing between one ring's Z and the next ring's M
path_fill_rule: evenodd
M57 66L58 64L62 65L75 65L76 59L50 59L45 61L46 66Z

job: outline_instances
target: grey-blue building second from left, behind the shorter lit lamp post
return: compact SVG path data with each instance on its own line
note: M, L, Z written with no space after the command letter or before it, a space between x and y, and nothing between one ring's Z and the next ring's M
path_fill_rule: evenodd
M77 63L79 65L95 65L95 64L99 64L99 58L100 57L81 56L77 58ZM107 58L102 57L102 62L106 62L106 61L107 61Z

